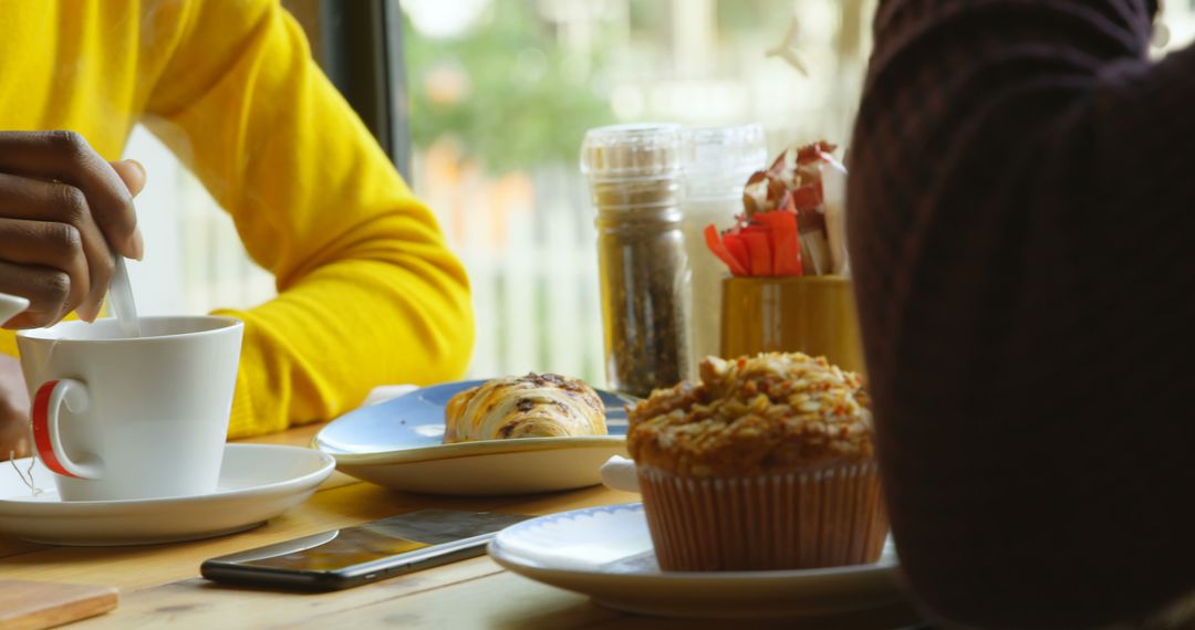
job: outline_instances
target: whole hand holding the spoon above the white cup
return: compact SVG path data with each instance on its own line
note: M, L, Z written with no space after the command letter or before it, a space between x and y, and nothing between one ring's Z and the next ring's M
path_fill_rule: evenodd
M72 131L0 131L0 292L30 302L5 328L99 315L114 251L141 259L133 197L145 177Z

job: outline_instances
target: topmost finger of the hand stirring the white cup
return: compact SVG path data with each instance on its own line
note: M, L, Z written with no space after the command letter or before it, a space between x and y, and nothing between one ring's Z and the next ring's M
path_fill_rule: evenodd
M74 131L0 131L0 172L71 184L87 196L108 242L141 259L133 196L116 169Z

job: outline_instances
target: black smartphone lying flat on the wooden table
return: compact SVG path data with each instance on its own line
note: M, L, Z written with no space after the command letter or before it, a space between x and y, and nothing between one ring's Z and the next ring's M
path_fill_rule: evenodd
M204 561L208 580L299 591L337 591L480 556L522 514L421 509Z

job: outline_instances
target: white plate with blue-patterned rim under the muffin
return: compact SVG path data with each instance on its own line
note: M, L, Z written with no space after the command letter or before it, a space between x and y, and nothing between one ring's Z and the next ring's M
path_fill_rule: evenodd
M661 572L642 504L552 514L503 530L490 556L514 573L612 609L667 617L793 617L900 601L889 543L875 564L805 570Z

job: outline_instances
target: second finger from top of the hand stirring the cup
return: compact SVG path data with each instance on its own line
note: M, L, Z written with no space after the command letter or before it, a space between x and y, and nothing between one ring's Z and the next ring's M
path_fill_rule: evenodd
M78 311L79 317L94 321L112 278L115 261L87 205L86 194L67 184L0 173L0 199L4 199L4 214L10 218L69 223L79 230L88 276L86 284L78 288L86 291ZM80 279L75 278L76 282Z

